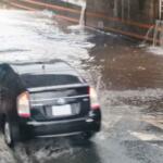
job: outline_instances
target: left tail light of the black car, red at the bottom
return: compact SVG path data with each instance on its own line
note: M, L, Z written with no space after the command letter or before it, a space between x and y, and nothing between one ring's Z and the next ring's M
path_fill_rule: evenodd
M21 117L29 117L29 93L27 91L17 97L17 113Z

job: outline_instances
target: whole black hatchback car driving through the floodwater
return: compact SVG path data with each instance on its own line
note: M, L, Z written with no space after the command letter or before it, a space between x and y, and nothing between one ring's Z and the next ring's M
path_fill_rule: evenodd
M0 64L0 122L5 142L100 130L93 88L67 63Z

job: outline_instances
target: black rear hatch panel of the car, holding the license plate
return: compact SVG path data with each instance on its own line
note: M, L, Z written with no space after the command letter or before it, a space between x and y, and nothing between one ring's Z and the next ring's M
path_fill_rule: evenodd
M90 110L86 84L29 88L32 118L38 122L85 117Z

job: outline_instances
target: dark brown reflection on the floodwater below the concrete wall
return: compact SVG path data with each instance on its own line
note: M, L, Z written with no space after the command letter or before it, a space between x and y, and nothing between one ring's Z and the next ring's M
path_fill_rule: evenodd
M88 66L100 66L102 79L109 89L163 88L163 58L146 52L131 41L117 37L96 39Z

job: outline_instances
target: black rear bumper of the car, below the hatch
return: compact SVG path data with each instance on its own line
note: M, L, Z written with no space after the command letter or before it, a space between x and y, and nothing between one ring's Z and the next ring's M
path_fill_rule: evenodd
M21 130L29 137L71 136L85 131L99 131L101 116L82 117L64 121L35 122L29 121L21 126Z

